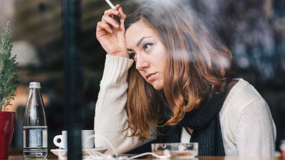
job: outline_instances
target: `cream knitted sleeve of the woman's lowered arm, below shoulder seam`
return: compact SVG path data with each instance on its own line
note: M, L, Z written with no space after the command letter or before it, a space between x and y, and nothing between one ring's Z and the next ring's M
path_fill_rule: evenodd
M275 154L276 127L264 99L251 102L241 112L236 141L239 156L270 157Z

